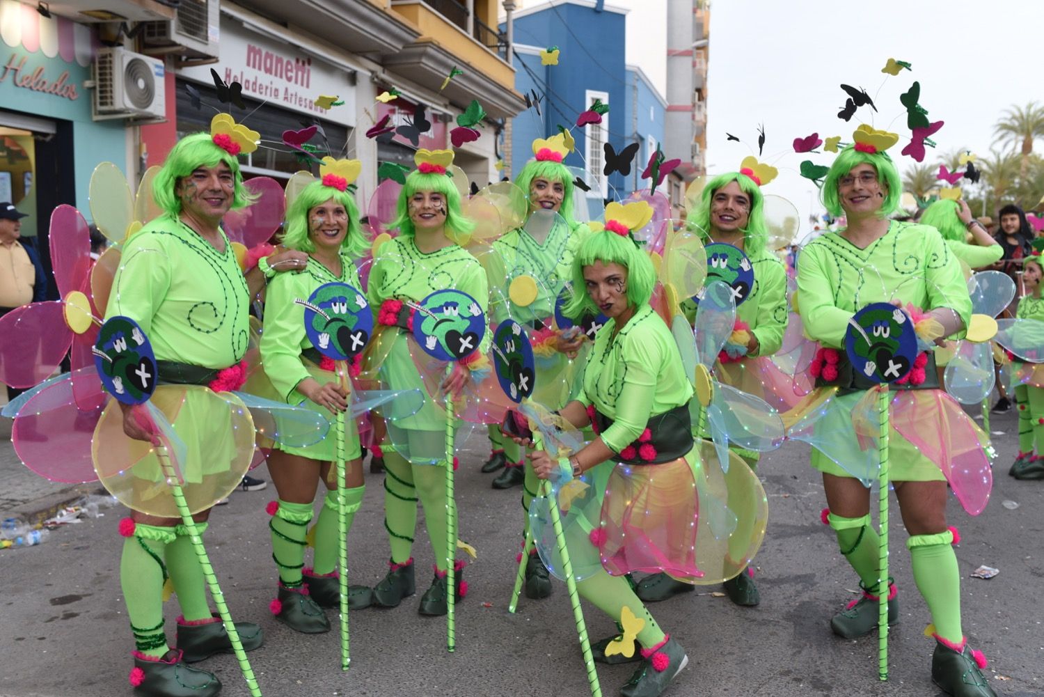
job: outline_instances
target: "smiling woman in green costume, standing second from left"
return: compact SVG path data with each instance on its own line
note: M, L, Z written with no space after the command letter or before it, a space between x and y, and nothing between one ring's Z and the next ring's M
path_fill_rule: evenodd
M341 166L343 165L343 166ZM280 274L268 284L265 301L261 358L279 398L304 404L328 418L348 409L348 392L341 387L333 361L325 358L305 333L303 305L325 283L347 283L361 292L355 260L369 249L359 227L359 211L348 189L358 175L358 161L341 160L323 180L312 182L290 204L283 245L308 254L307 265L298 273ZM321 169L327 169L324 167ZM349 181L349 177L352 181ZM350 364L353 365L353 364ZM354 419L345 421L347 454L347 511L349 526L362 504L359 437ZM272 559L279 570L279 595L271 609L276 619L305 633L330 630L324 607L340 603L335 566L340 539L337 526L336 442L328 437L307 447L277 445L268 456L268 471L279 501L268 506L271 520ZM314 529L315 558L306 568L305 545L312 520L312 501L319 480L327 487ZM349 607L371 603L366 586L349 589Z

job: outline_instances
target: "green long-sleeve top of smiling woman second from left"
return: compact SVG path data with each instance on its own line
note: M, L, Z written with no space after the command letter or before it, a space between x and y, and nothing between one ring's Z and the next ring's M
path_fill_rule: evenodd
M305 396L296 392L298 385L309 377L301 362L301 352L312 348L305 333L305 307L294 300L307 300L315 288L325 283L348 283L361 292L355 264L347 255L340 256L340 276L315 259L301 273L277 274L268 283L264 306L264 331L261 333L261 361L265 373L279 394L291 404L300 404Z

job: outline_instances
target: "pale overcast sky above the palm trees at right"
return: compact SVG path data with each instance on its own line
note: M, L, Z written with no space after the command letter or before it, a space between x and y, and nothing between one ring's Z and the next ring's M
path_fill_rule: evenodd
M798 168L804 159L829 165L833 155L796 154L793 139L817 132L824 140L843 136L843 142L851 142L861 118L900 135L888 150L900 169L916 165L899 154L909 135L899 95L914 80L921 83L920 103L929 120L945 121L933 136L935 152L989 155L994 123L1005 109L1044 103L1042 25L1044 2L1039 0L712 2L708 172L738 169L745 156L756 156L757 129L763 123L761 161L780 169L764 192L794 204L807 232L810 210L823 208L814 201L817 189ZM910 63L912 71L896 77L882 73L888 57ZM839 119L843 83L865 88L878 112L864 107L851 121ZM726 132L742 143L729 142ZM1042 145L1044 139L1038 149L1044 150ZM933 155L929 148L925 162Z

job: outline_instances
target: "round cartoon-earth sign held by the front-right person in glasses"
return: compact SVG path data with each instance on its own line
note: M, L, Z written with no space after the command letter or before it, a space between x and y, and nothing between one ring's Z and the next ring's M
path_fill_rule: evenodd
M891 303L871 303L849 320L845 352L853 369L874 382L895 382L914 367L917 332L909 316Z

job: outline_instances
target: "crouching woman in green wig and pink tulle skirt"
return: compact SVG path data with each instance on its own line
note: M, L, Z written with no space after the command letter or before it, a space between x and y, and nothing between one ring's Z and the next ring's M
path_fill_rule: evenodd
M648 304L656 284L651 261L623 224L609 220L606 227L576 251L573 286L586 294L577 293L566 311L601 312L610 319L595 338L579 398L560 412L572 425L590 424L600 435L568 460L552 460L544 450L529 458L538 478L559 481L607 461L619 463L609 477L600 524L595 521L589 536L583 534L584 526L570 526L567 544L571 555L584 555L594 545L600 567L576 587L622 626L628 647L637 643L634 656L642 663L621 694L656 697L688 657L623 575L702 575L693 480L698 463L688 410L693 391L670 330ZM601 642L592 650L604 654L608 646Z

